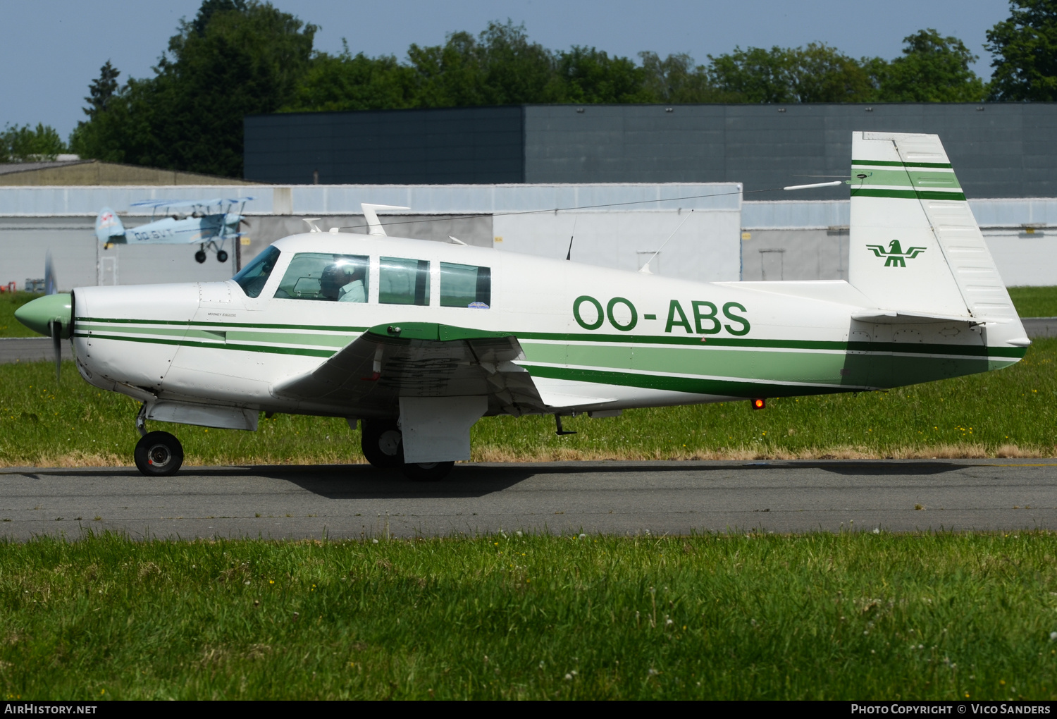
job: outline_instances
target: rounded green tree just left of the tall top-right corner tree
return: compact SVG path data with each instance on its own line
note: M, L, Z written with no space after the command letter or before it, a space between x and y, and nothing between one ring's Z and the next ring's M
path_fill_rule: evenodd
M957 37L921 30L903 38L903 57L882 72L877 99L884 103L979 103L984 81L969 69L979 59Z

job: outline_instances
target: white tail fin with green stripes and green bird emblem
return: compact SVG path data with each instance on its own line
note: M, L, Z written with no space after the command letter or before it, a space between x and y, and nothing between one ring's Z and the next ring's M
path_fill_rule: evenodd
M878 308L1023 337L939 136L853 134L850 238L849 282Z

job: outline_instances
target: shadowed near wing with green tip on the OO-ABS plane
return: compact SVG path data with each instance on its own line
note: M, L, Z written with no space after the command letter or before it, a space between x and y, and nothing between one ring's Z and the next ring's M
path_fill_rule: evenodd
M516 336L432 322L378 325L305 374L272 387L349 417L389 413L401 397L486 395L488 412L548 411ZM551 410L553 411L553 409Z

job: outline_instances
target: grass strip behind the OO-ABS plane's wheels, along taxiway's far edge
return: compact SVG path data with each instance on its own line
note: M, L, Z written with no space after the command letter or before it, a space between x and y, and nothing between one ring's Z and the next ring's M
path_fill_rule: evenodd
M474 459L742 459L1052 457L1057 445L1057 338L1014 367L890 392L637 409L567 420L495 417L472 430ZM84 382L72 363L56 389L50 363L0 365L0 465L131 464L137 405ZM344 420L279 414L245 432L149 423L184 444L188 464L363 461Z

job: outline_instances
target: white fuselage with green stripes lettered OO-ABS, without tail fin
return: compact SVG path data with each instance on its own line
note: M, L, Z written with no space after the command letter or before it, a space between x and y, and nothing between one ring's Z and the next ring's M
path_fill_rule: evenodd
M353 234L297 235L273 247L275 266L256 297L237 280L77 290L74 347L85 377L160 400L388 417L390 398L379 390L390 375L415 374L428 384L438 376L430 370L435 357L402 358L383 365L377 379L370 371L356 377L367 390L358 406L340 397L286 398L276 388L369 328L384 325L398 337L388 328L441 325L516 337L524 356L515 362L545 404L504 408L497 400L488 413L533 413L887 388L1004 367L1024 352L988 347L984 330L954 321L855 320L872 303L843 281L698 283ZM280 292L291 263L305 254L363 258L366 301ZM462 281L455 299L461 306L450 306L445 265L486 270L487 301L467 307L477 300Z

